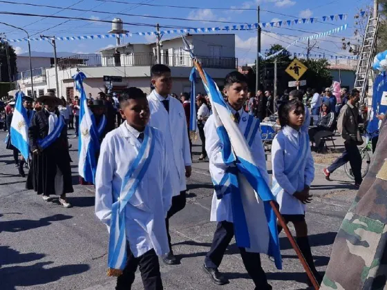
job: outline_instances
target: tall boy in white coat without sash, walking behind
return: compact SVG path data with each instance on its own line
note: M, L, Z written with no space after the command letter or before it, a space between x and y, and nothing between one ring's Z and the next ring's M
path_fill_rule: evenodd
M151 82L155 89L148 96L151 119L149 125L158 128L164 135L167 145L167 158L171 171L172 206L167 219L167 234L171 251L164 255L165 264L178 264L173 255L171 235L169 235L169 218L185 208L187 184L186 177L191 176L191 152L187 132L185 110L174 97L171 97L171 69L164 64L156 64L151 68Z

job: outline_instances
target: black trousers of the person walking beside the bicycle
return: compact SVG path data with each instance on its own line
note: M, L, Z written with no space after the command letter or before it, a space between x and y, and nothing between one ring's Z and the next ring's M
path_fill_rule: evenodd
M335 160L332 165L328 167L328 171L332 173L337 168L343 166L347 162L350 162L355 182L361 184L363 179L361 178L361 155L355 142L344 142L346 150L343 154Z

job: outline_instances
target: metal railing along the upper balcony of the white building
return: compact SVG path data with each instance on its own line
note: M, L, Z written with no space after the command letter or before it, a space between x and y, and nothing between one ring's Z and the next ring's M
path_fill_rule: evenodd
M235 57L197 57L204 68L229 68L238 67L238 59ZM115 54L115 55L73 55L58 61L59 69L76 67L100 67L100 66L153 66L157 59L152 53ZM193 66L189 55L161 55L161 64L167 66Z

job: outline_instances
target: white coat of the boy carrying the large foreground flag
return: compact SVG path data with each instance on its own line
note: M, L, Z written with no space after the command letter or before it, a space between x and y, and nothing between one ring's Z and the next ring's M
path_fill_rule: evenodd
M232 113L236 113L232 110ZM242 109L239 110L240 121L239 129L242 133L245 133L247 126L247 120L249 115ZM206 151L209 156L209 171L211 176L223 175L227 166L223 162L221 144L218 133L216 132L216 124L214 115L209 116L207 123L205 124L205 137L206 137ZM267 174L265 151L263 149L261 134L256 133L254 142L251 146L252 155L254 161L259 168L259 171L267 184L269 184L269 175ZM247 182L245 178L240 178L240 186L243 186L244 182ZM231 194L224 195L220 200L214 195L212 197L211 204L211 222L233 222L232 218L232 202Z

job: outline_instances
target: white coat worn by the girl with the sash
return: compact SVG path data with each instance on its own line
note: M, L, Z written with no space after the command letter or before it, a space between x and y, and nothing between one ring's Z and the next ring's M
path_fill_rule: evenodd
M302 131L296 131L290 126L285 126L274 137L272 144L272 168L273 177L283 188L283 192L276 196L280 206L280 212L285 215L303 215L305 213L305 204L293 196L296 191L302 191L305 185L310 186L314 180L314 161L310 146L308 153L304 158L304 166L299 171L296 178L289 180L285 175L285 168L295 163L295 158L299 153L299 140Z

